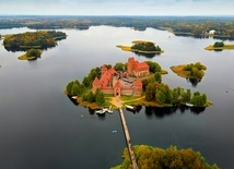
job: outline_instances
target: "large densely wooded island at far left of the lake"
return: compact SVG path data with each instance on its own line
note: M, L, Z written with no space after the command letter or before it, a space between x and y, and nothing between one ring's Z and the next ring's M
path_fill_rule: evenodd
M5 35L3 45L9 51L26 51L31 48L47 49L55 47L57 40L65 39L66 33L56 31L37 31Z

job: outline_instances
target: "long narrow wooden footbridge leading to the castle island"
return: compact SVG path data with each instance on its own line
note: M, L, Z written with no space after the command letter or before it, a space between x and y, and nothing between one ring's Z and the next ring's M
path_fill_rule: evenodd
M131 164L132 164L133 169L138 169L138 164L137 164L134 152L133 152L133 148L132 148L132 145L131 145L131 138L130 138L130 134L129 134L129 131L128 131L127 122L125 120L125 114L124 114L124 111L122 111L122 108L121 108L121 104L120 104L118 97L116 97L116 99L117 99L118 107L119 107L119 114L120 114L120 119L121 119L121 123L122 123L122 129L124 129L124 132L125 132L126 143L127 143L127 146L128 146Z

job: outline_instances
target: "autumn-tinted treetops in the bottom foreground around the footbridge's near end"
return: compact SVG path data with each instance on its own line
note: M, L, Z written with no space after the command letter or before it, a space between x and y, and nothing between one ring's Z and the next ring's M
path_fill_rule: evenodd
M137 164L139 169L155 169L155 168L189 168L189 169L219 169L217 164L208 164L200 152L195 152L191 148L178 149L176 146L169 146L166 149L152 147L149 145L133 146ZM132 168L128 149L124 150L124 161L121 165L110 169Z

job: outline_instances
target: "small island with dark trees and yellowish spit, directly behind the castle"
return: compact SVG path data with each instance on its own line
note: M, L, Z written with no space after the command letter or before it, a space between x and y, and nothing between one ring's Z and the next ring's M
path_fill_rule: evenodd
M160 55L164 52L159 46L155 46L154 43L151 41L143 41L143 40L134 40L132 41L132 46L121 46L118 45L117 47L125 50L125 51L132 51L138 55Z

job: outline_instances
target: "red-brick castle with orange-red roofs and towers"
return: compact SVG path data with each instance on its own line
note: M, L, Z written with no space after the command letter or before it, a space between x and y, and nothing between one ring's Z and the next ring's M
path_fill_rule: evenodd
M116 72L114 68L107 69L104 64L101 68L101 77L95 77L93 81L93 90L98 88L104 94L113 94L114 96L141 95L142 82L139 77L150 74L149 65L145 62L138 62L133 58L129 58L127 74L137 76L137 79L131 82L120 77L119 73Z

